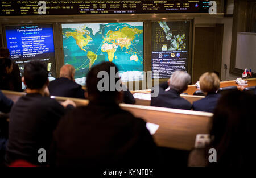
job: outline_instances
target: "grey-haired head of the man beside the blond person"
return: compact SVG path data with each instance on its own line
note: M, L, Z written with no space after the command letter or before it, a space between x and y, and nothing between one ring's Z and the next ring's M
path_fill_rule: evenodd
M188 88L191 77L187 72L175 71L170 77L170 88L177 90L177 92L184 92Z

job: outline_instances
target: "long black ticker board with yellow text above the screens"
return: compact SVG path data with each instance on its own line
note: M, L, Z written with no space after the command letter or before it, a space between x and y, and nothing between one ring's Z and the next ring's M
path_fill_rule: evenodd
M18 1L2 0L1 15L130 14L130 13L208 13L209 1ZM40 8L40 9L39 9Z

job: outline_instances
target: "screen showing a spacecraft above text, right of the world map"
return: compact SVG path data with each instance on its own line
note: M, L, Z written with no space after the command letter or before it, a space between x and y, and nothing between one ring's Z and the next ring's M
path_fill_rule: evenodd
M188 69L189 22L151 22L152 78Z

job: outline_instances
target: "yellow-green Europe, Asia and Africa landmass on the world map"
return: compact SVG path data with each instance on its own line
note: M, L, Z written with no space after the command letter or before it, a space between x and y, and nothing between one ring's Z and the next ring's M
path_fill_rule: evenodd
M104 44L101 47L102 52L108 53L109 61L113 61L114 53L117 47L123 47L129 49L131 42L135 39L135 35L142 34L143 30L138 30L137 28L130 28L128 26L123 27L119 31L108 31L106 38L104 38Z

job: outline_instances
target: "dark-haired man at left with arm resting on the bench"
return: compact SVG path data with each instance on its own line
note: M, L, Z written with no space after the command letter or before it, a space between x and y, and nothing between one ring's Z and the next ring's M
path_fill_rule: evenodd
M22 159L39 165L39 149L44 148L48 152L53 130L65 113L64 107L75 104L66 100L61 105L46 96L48 72L40 61L25 65L22 80L27 85L27 94L20 97L11 109L5 162L10 164ZM46 163L42 164L48 162L47 158Z

